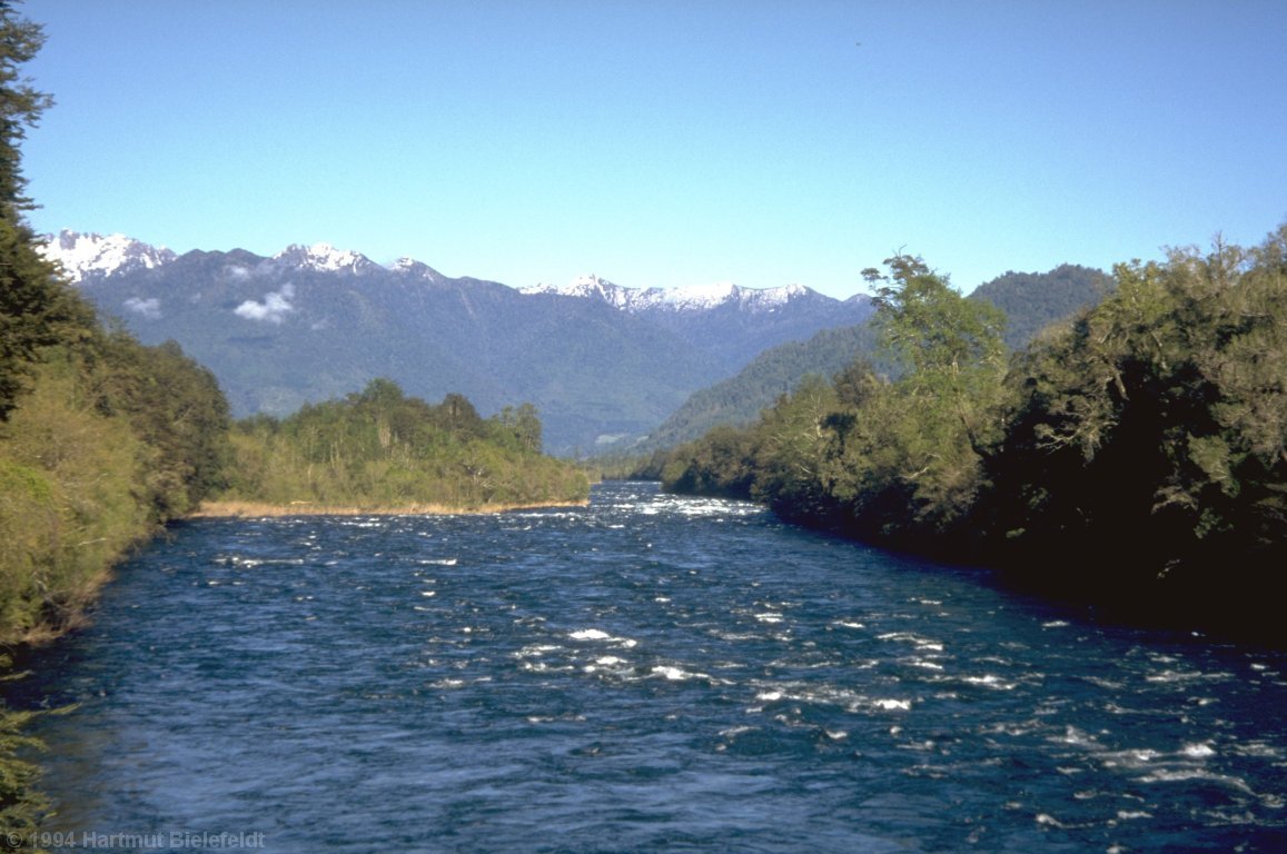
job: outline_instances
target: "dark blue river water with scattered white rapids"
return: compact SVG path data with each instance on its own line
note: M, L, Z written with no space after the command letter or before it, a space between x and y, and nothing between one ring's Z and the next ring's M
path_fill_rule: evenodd
M185 523L22 691L55 850L1282 851L1284 659L610 484Z

